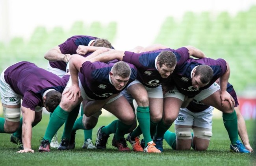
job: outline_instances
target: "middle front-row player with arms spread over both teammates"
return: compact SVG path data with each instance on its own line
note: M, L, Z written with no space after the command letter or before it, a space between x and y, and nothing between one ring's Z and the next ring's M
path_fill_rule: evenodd
M198 58L205 57L204 53L192 46L174 50L159 44L144 48L140 50L140 53L112 50L95 57L97 61L113 59L126 61L138 68L137 80L128 85L127 88L127 92L132 95L138 104L137 119L139 126L127 138L134 151L160 152L152 142L150 127L154 128L162 117L163 93L161 82L169 77L176 65L182 65L190 55ZM147 142L144 149L139 145L139 135L141 133L145 142Z

